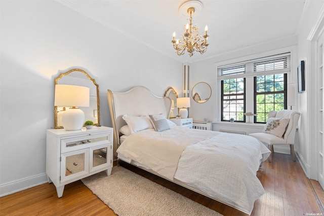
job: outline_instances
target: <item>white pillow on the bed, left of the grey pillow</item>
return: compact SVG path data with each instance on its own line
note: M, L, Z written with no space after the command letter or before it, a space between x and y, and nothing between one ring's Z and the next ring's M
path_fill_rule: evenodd
M123 119L126 121L131 133L136 133L141 130L153 128L153 125L147 116L130 117L130 116L124 115Z

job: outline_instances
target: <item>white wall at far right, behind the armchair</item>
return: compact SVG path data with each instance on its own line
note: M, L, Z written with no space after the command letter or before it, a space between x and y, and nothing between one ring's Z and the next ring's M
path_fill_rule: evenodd
M298 32L298 62L305 61L305 91L298 94L298 107L301 112L299 121L299 141L298 156L306 175L317 179L317 160L314 152L316 149L315 124L316 101L314 97L315 88L315 68L316 61L311 58L310 41L307 40L312 28L319 19L323 1L307 1L304 17ZM317 149L316 149L317 150ZM311 172L312 170L312 172Z

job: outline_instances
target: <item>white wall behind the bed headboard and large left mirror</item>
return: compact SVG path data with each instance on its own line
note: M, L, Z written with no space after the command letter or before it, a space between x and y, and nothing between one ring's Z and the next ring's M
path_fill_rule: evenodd
M104 126L111 126L107 89L141 85L158 96L181 89L181 62L58 2L1 1L0 13L0 196L47 181L58 70L81 66L96 78Z

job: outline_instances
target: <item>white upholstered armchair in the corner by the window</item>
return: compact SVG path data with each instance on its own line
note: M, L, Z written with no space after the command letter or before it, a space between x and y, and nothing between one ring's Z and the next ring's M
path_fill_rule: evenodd
M273 135L268 132L250 133L249 135L259 139L261 142L268 145L268 148L271 151L271 155L268 159L269 162L271 162L274 154L273 145L288 145L288 144L290 145L290 154L292 156L292 160L296 161L294 143L295 143L296 127L298 124L300 113L292 110L270 111L268 117L269 117L269 121L270 118L289 119L289 123L286 127L286 131L281 131L283 133L282 137Z

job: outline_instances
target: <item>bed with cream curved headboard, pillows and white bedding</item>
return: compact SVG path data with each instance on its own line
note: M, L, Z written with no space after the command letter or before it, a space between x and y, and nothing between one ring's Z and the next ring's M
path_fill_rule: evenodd
M264 189L256 176L270 151L256 138L175 126L171 100L138 86L108 90L118 160L251 214Z

